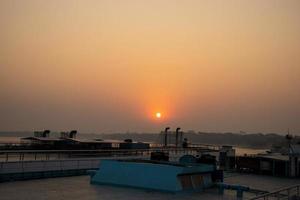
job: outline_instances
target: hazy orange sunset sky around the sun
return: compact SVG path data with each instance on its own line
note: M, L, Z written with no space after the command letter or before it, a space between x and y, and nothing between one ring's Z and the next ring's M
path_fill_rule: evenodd
M299 10L298 0L0 0L0 130L300 135Z

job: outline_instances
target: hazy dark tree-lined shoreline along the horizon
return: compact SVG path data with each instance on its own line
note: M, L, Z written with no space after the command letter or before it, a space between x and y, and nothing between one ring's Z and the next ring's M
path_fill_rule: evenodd
M11 139L17 141L17 138L32 136L32 132L0 132L0 142ZM50 137L59 137L59 133L53 132ZM232 145L237 147L252 149L269 149L273 145L280 146L286 143L285 137L279 134L239 134L239 133L205 133L188 132L184 133L191 143L212 144L212 145ZM133 139L135 141L160 143L161 137L158 133L79 133L78 138L88 139ZM299 137L296 137L298 139Z

